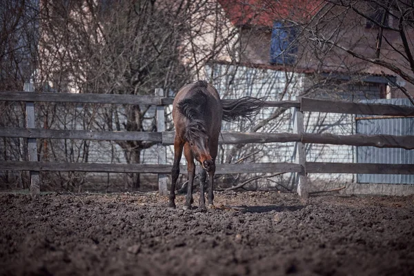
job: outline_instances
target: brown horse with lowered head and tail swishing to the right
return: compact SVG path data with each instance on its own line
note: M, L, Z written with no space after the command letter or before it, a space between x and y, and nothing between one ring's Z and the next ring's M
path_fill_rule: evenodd
M262 100L253 97L243 97L224 103L214 86L206 81L197 81L197 83L188 84L179 90L174 103L172 103L175 139L170 208L175 208L175 184L179 176L179 161L183 148L188 164L188 190L184 208L191 208L191 204L193 204L194 159L199 161L204 168L200 173L199 208L206 209L204 199L206 172L208 172L209 179L208 205L213 206L213 177L221 120L234 121L239 117L249 119L259 112L263 104Z

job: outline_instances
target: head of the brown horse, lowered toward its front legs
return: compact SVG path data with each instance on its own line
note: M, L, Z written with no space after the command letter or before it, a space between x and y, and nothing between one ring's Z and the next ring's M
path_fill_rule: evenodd
M214 166L214 160L210 155L210 137L203 124L189 126L186 131L186 140L190 144L195 159L201 163L204 170L210 171Z

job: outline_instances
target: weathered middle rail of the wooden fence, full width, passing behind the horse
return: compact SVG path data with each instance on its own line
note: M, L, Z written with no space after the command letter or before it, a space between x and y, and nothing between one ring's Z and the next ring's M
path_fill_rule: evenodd
M90 130L50 130L43 128L0 128L0 137L22 137L41 139L84 139L106 141L154 141L168 146L174 144L173 131L90 131ZM266 144L299 142L311 144L331 144L348 146L374 146L376 148L414 149L411 135L334 135L331 133L264 133L264 132L222 132L219 144Z

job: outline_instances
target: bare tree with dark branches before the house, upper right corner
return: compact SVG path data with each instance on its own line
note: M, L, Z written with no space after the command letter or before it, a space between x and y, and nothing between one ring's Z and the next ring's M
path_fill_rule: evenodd
M306 48L316 57L312 66L396 75L397 81L389 82L414 104L413 11L413 3L404 0L328 0L295 23L311 41Z

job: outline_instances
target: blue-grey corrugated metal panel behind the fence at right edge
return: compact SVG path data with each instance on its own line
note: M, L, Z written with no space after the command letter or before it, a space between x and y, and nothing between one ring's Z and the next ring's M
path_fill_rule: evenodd
M408 99L377 99L366 103L411 106ZM357 133L414 135L414 118L359 119ZM357 163L414 164L414 150L357 147ZM358 183L414 184L414 175L357 175Z

